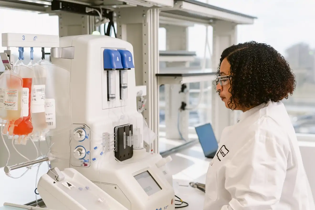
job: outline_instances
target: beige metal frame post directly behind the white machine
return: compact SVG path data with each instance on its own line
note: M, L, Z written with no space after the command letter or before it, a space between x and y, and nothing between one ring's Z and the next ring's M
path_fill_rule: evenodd
M137 6L134 8L118 8L117 38L133 45L135 54L136 85L146 85L146 108L143 116L154 133L158 136L159 88L155 74L159 69L158 28L159 10ZM141 56L142 55L142 56ZM158 153L158 139L152 145L145 144L146 150L151 148Z

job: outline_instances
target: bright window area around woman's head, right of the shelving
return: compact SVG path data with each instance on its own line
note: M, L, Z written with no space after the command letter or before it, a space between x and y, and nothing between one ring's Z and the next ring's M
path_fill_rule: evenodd
M313 28L306 21L315 19L315 2L208 0L208 3L258 17L253 25L238 26L238 43L250 40L267 43L284 55L297 84L294 94L283 103L296 133L315 134L315 39Z

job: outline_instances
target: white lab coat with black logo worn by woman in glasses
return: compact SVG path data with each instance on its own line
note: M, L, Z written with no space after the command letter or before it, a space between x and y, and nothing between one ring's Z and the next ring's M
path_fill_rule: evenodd
M282 102L243 112L222 131L204 210L315 210L294 128Z

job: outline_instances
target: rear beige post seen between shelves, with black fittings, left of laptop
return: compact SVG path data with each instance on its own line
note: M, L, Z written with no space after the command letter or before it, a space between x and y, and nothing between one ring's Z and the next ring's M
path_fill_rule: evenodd
M160 25L166 29L166 50L188 51L188 27ZM189 62L168 62L167 67L189 67ZM186 84L189 91L189 83ZM165 85L165 132L167 139L188 140L189 110L179 112L181 102L189 105L189 93L179 93L181 84ZM179 116L178 116L179 115ZM178 128L179 127L179 128ZM182 136L180 136L180 133Z

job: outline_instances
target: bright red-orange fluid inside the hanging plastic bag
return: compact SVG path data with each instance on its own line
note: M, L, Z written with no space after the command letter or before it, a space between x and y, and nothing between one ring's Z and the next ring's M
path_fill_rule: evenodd
M32 78L22 79L23 88L28 88L28 116L23 117L22 122L20 122L17 126L14 127L13 135L18 135L19 139L21 138L22 135L24 135L26 138L30 133L33 132L33 125L31 122ZM25 111L25 109L23 111ZM23 114L23 116L24 115L25 114Z

